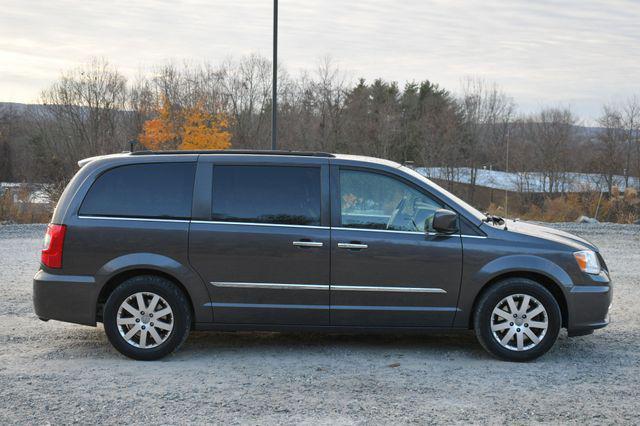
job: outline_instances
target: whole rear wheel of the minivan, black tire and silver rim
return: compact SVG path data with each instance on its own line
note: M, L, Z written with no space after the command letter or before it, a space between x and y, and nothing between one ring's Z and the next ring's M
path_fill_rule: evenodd
M121 354L151 361L182 346L191 329L191 308L170 280L140 275L113 290L104 305L103 323L109 342Z

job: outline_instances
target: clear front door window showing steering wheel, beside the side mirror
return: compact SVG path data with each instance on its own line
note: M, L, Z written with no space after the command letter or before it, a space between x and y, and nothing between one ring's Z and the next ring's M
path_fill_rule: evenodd
M359 170L340 171L340 216L346 228L432 231L442 204L398 179Z

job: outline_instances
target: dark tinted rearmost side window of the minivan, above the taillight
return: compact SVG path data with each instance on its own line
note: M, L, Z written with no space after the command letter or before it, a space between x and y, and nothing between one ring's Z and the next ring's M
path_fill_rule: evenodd
M159 219L191 216L195 163L132 164L100 175L80 214Z

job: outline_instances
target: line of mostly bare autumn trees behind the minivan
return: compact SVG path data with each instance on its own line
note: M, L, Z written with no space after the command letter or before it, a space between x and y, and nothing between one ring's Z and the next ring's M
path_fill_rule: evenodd
M349 81L323 59L292 76L279 70L278 148L371 155L437 167L452 186L479 170L518 172L518 188L542 176L561 193L572 172L595 173L611 193L638 185L640 98L604 105L596 128L567 107L523 114L495 84L477 78L452 92L423 80L400 87ZM40 103L0 108L0 181L46 183L59 191L79 159L129 149L269 149L271 63L250 55L218 64L165 64L127 79L95 59L62 74ZM634 177L636 178L634 180Z

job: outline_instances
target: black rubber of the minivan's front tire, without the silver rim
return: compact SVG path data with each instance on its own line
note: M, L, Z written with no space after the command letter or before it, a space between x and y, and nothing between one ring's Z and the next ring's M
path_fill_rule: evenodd
M529 295L537 299L546 310L546 319L548 321L546 333L530 349L519 351L509 349L498 341L491 330L494 308L503 299L511 295ZM496 316L496 318L498 317ZM521 318L520 321L525 320ZM517 327L517 323L509 324L516 324ZM523 326L524 324L517 330L524 330ZM491 355L506 361L530 361L545 354L558 338L561 327L562 314L555 297L544 286L527 278L508 278L492 285L481 295L474 312L474 328L478 341ZM507 332L508 330L503 331L505 334ZM528 337L526 339L528 343L533 344L532 341L528 340Z

